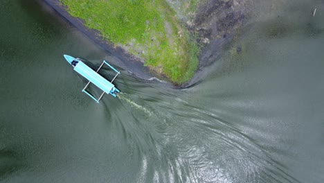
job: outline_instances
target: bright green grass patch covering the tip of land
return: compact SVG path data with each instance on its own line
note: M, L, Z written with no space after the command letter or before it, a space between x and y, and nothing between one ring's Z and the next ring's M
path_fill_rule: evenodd
M73 17L152 71L179 84L192 78L199 46L165 0L60 0Z

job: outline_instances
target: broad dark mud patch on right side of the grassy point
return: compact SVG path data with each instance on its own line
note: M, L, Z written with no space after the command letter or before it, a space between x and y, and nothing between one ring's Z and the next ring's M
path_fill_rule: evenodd
M206 68L217 61L224 46L237 36L237 30L251 17L252 7L251 0L209 0L201 3L193 21L187 25L192 33L198 34L197 42L201 45L199 68L192 80L179 87L195 85L208 74Z

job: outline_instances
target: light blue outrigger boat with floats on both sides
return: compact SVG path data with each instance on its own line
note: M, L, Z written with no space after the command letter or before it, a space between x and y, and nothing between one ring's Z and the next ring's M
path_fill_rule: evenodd
M114 67L112 67L110 64L108 64L105 60L102 62L100 65L99 69L97 71L93 71L90 67L88 67L86 64L84 64L80 59L78 58L73 58L69 55L64 55L64 58L66 61L69 62L74 67L74 70L80 73L81 76L89 80L87 85L82 89L82 92L86 93L88 96L90 96L94 101L99 103L100 99L102 96L106 94L111 94L112 96L116 97L116 94L118 94L120 91L115 87L115 85L112 84L112 82L116 79L118 74L120 74L120 71L117 71ZM98 71L101 69L103 64L107 64L111 69L116 71L116 76L111 80L106 80L100 74ZM87 92L87 87L89 86L90 83L93 83L96 85L98 88L100 88L103 92L101 96L97 99L93 95L91 95L89 92Z

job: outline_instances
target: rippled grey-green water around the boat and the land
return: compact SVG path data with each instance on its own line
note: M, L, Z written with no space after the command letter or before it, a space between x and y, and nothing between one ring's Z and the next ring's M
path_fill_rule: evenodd
M117 58L44 4L1 0L0 182L323 182L323 1L269 4L199 84L122 71L97 105L62 55Z

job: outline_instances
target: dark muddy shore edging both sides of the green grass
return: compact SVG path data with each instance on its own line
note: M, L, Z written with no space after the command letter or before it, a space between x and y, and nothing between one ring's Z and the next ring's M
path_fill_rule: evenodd
M114 45L105 41L100 37L98 31L84 26L82 20L72 17L59 0L44 1L57 12L57 15L69 21L70 24L78 28L84 35L87 35L93 42L100 45L102 49L118 58L118 61L113 62L113 64L147 82L157 80L154 79L154 73L144 67L141 60L125 52L120 47L114 47ZM191 24L185 24L188 30L198 35L197 42L201 45L199 68L189 82L178 86L170 84L171 87L178 89L190 87L206 76L205 68L219 58L224 50L224 45L233 40L235 30L240 28L246 21L249 12L248 8L246 8L248 7L247 4L249 4L248 0L240 1L240 3L235 0L210 0L198 7L197 14L192 19Z

